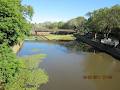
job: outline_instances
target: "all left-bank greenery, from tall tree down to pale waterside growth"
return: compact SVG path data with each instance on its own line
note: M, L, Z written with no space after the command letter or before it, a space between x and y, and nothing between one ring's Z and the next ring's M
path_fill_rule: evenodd
M48 81L38 68L45 55L19 58L11 50L29 34L32 15L32 7L21 0L0 0L0 90L37 90Z

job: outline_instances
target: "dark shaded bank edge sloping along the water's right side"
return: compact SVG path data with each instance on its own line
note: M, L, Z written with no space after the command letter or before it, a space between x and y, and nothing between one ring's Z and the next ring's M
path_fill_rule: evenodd
M114 58L117 58L120 60L120 49L118 49L118 48L110 47L110 46L102 44L100 42L92 41L91 39L86 38L83 35L77 36L77 41L82 41L84 43L87 43L88 45L91 45L92 47L94 47L102 52L105 52L105 53L113 56Z

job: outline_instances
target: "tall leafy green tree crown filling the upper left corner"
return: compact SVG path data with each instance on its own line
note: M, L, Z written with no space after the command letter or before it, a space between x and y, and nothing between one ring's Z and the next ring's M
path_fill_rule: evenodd
M14 45L30 30L26 17L33 14L32 7L23 6L21 0L0 0L0 44Z

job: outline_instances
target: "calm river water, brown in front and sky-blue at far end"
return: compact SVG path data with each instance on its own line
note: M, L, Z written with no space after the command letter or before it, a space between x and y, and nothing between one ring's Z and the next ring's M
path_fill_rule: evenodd
M40 67L48 73L49 82L39 90L120 90L119 60L73 46L25 41L18 55L47 54Z

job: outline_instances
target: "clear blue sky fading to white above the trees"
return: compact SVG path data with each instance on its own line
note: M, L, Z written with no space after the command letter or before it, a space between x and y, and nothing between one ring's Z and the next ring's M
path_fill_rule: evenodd
M120 0L23 0L34 8L33 23L67 21L87 12L120 4Z

